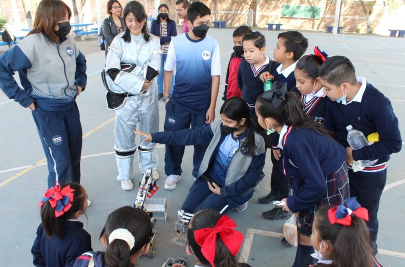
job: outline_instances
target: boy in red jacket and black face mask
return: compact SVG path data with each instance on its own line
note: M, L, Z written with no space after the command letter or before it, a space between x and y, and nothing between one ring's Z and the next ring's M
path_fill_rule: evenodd
M230 55L228 70L226 71L225 90L222 100L231 98L232 96L242 96L242 91L238 86L238 69L241 62L245 60L243 54L242 38L246 33L251 33L252 30L247 26L238 27L232 33L233 38L233 52Z

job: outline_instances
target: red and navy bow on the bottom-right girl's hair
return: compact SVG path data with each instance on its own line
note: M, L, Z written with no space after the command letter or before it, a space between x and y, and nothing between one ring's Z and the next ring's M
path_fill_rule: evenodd
M337 222L345 226L350 226L352 223L352 215L364 219L365 221L369 220L369 212L367 209L360 206L356 197L347 198L346 207L339 205L328 211L328 218L331 224Z

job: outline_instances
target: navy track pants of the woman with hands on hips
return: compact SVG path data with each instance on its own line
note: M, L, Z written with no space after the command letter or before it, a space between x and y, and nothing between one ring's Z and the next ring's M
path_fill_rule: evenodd
M76 102L63 111L36 106L32 116L47 157L48 188L55 181L80 183L82 130Z

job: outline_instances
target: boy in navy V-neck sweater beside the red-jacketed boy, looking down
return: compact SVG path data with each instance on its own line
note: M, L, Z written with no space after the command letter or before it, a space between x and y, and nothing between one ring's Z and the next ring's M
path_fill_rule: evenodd
M242 90L242 99L246 101L250 113L254 114L254 104L263 93L263 83L260 74L267 71L270 63L266 52L266 39L260 32L247 33L243 36L242 61L238 69L238 86Z

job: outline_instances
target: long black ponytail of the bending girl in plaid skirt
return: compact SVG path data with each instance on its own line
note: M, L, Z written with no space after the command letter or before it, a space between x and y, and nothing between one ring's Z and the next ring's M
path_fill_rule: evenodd
M285 94L280 107L274 108L273 104L263 98L261 94L256 100L256 111L264 118L273 118L279 125L292 126L295 129L305 128L313 129L318 134L332 137L332 133L323 125L316 123L313 118L308 116L304 111L304 102L301 101L297 94L288 92Z

